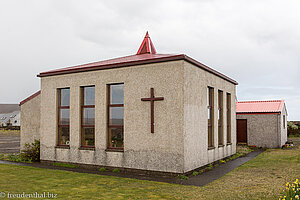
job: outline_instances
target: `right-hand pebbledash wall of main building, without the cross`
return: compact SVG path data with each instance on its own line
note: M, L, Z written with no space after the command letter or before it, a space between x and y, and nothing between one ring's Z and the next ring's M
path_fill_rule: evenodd
M214 149L208 150L207 86L214 88ZM223 91L223 144L218 146L218 90ZM231 143L227 144L226 93L231 94ZM236 87L184 62L184 171L236 153Z

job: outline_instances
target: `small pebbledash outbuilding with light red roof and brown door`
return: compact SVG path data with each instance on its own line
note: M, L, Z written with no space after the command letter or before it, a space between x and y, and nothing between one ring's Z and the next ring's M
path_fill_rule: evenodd
M278 148L287 141L284 100L236 103L237 143Z

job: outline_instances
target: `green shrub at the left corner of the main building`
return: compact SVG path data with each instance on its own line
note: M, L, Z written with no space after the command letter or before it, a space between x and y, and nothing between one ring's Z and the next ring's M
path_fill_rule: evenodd
M25 149L20 153L23 161L39 162L40 161L40 141L34 140L33 143L25 144Z

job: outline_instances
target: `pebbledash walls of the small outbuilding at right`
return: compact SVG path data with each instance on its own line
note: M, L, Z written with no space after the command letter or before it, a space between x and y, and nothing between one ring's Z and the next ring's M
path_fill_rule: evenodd
M283 124L285 115L285 126ZM237 114L247 119L247 143L257 147L280 148L287 141L287 110L277 114Z

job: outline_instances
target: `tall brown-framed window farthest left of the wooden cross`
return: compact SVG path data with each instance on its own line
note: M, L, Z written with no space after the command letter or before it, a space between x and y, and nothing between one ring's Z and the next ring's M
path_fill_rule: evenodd
M57 90L58 96L58 146L70 144L70 88Z

